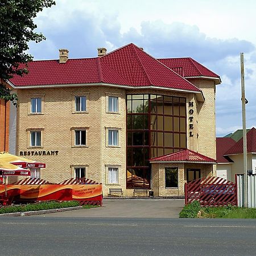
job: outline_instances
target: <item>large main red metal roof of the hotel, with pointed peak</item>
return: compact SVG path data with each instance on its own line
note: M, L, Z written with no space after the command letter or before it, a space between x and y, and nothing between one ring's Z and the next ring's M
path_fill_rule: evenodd
M158 86L177 90L201 90L177 75L134 44L90 59L32 61L28 75L15 76L15 86L106 83L130 86Z

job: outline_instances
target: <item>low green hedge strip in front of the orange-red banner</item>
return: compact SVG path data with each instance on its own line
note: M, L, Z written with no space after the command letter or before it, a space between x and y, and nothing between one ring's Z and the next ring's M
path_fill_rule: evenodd
M30 212L33 210L48 210L48 209L60 209L67 207L77 207L79 206L78 201L47 201L36 204L27 204L27 205L13 205L9 207L0 208L0 214L2 213L14 213L14 212Z

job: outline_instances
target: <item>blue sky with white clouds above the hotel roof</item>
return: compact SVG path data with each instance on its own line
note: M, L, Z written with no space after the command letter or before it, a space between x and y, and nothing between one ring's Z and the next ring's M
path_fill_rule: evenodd
M256 127L256 1L57 0L35 18L46 40L30 43L34 60L96 57L128 43L150 55L192 57L220 75L216 135L242 129L240 53L245 58L246 127Z

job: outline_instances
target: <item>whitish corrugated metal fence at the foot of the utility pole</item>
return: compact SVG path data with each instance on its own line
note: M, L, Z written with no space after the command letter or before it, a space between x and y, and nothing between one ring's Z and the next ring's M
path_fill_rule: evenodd
M256 207L256 174L247 174L248 177L248 207ZM243 203L243 174L236 175L237 183L237 206L242 207Z

